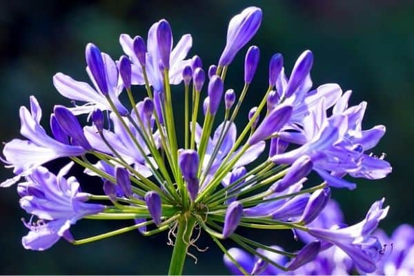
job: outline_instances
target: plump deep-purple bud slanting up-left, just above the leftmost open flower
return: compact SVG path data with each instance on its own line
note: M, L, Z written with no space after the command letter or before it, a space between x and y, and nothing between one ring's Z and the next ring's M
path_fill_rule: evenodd
M59 123L61 129L66 132L66 134L71 137L75 143L85 150L92 150L88 140L83 134L83 129L75 115L68 110L65 106L55 106L53 109L55 117Z

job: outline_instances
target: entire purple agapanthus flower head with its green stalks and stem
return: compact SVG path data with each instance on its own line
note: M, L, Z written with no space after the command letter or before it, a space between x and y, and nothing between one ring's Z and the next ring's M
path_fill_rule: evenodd
M335 83L313 88L310 50L299 56L289 77L282 55L271 57L268 88L237 133L235 119L242 104L248 104L243 102L259 63L259 48L250 46L246 52L242 91L225 91L226 74L261 21L262 10L256 7L233 17L226 46L207 73L198 56L187 58L191 35L173 46L165 19L151 26L146 43L140 36L121 34L125 55L117 61L88 43L86 72L92 85L61 72L53 77L57 91L75 105L55 106L52 135L41 126L37 99L30 97L30 111L20 108L26 139L13 139L3 149L3 161L13 168L14 177L1 184L18 182L21 207L36 217L25 222L30 232L23 246L44 250L60 237L85 244L135 229L145 236L169 230L175 237L170 239L174 251L169 273L179 274L197 242L193 230L200 229L224 251L235 273L305 273L308 262L323 262L334 250L348 255L342 255L344 267L337 270L348 271L348 263L364 273L391 269L378 263L382 246L372 234L388 212L384 199L353 226L327 215L335 209L331 188L356 188L345 176L381 179L391 172L384 156L371 153L385 127L363 130L366 102L348 106L351 91L342 92ZM184 83L182 97L171 92L179 83ZM132 91L137 86L143 89ZM204 87L207 95L201 102ZM144 90L146 97L141 96ZM122 92L130 107L121 102ZM173 98L184 98L184 110L174 108ZM177 112L184 113L180 126ZM197 122L200 117L202 124ZM79 121L85 118L90 124L82 127ZM181 127L182 142L177 141ZM44 167L61 157L71 161L57 175ZM82 193L75 177L66 179L73 164L100 177L103 194ZM306 183L311 188L304 188L313 172L322 183ZM77 220L97 218L135 223L85 239L72 237L70 227ZM238 235L238 227L293 230L307 244L286 252ZM231 239L246 251L226 250L221 239Z

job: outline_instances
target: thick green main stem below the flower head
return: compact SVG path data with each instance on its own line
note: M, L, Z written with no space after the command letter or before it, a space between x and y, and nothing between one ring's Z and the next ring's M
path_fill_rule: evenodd
M195 223L196 219L194 217L182 215L179 218L177 238L175 239L174 249L172 250L168 275L182 275Z

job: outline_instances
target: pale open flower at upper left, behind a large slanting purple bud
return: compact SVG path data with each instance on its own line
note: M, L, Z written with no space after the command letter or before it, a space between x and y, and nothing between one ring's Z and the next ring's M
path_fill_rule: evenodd
M90 44L88 44L89 46ZM96 55L96 52L94 53ZM101 110L111 110L110 104L106 99L105 95L110 97L110 99L115 104L115 107L121 113L121 115L127 115L128 110L122 105L121 101L119 101L118 97L121 94L124 84L119 83L119 72L115 61L113 61L109 55L105 53L101 53L101 60L103 61L102 64L99 65L99 76L103 75L103 77L99 77L99 79L105 80L102 83L106 83L106 89L108 92L103 93L101 92L102 83L99 84L97 79L95 79L95 75L97 72L92 72L97 68L90 68L89 63L88 67L86 68L86 72L90 77L90 80L95 86L95 89L92 88L88 83L83 81L75 81L68 75L64 75L62 73L57 73L53 76L53 84L57 91L63 96L68 99L72 99L75 101L83 101L86 102L83 106L75 106L74 108L70 108L70 110L75 115L90 113L95 108L99 108ZM95 59L98 59L95 57ZM103 72L101 72L103 70Z

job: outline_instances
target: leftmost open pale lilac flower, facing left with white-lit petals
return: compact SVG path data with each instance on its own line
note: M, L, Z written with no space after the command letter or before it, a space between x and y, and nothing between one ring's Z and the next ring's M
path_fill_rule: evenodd
M3 148L6 164L13 168L13 173L16 176L3 181L0 184L1 187L11 186L19 181L20 177L29 175L32 170L48 161L60 157L79 156L86 153L86 150L81 146L64 144L47 135L46 130L40 125L40 120L41 108L37 99L32 96L30 97L30 112L24 106L20 108L20 132L28 140L13 139L6 143ZM51 123L53 121L51 120ZM57 126L53 126L53 128L56 129Z

